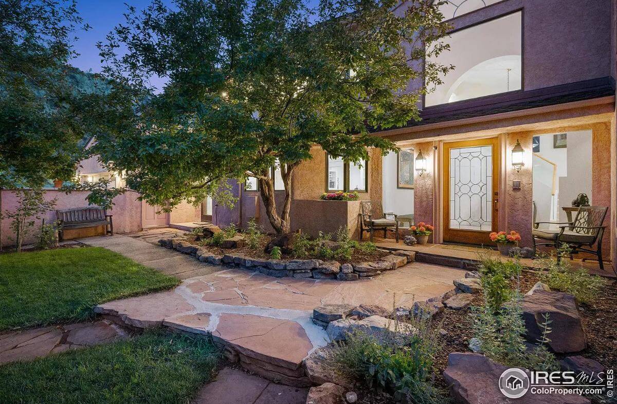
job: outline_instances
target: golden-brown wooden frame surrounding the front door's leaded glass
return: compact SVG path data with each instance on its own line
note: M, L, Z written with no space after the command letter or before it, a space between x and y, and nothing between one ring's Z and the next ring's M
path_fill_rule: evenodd
M491 145L493 147L492 154L492 228L491 231L497 231L499 228L499 199L501 194L500 175L501 175L501 160L502 147L499 137L496 138L480 138L463 141L442 142L441 164L439 167L439 177L441 178L441 212L439 212L439 220L441 221L441 237L444 242L464 242L467 244L492 244L489 241L490 231L471 231L450 229L450 159L449 150L453 147L472 147L480 145ZM438 199L439 200L439 199ZM495 203L495 200L497 201Z

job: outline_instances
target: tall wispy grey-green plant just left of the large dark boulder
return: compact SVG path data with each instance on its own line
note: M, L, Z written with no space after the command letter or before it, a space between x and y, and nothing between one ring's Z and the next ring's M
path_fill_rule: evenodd
M555 355L545 344L550 341L548 315L544 318L542 338L536 347L529 349L523 338L525 324L518 291L506 305L495 311L486 300L484 306L472 308L474 336L480 340L487 358L505 366L520 366L537 371L559 369Z

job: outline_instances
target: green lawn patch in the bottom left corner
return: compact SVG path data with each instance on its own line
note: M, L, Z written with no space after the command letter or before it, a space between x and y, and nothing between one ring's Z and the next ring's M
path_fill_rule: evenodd
M218 358L209 340L146 332L0 366L0 403L187 403Z

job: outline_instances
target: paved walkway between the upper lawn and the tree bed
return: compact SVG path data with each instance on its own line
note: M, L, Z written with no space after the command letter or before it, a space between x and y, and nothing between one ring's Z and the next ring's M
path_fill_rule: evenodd
M169 233L169 229L165 229L165 234ZM164 274L175 276L180 279L193 278L201 276L222 268L220 266L210 265L197 261L195 258L189 257L186 254L181 254L174 250L163 249L157 245L151 244L151 241L162 237L163 229L153 233L142 233L137 236L123 236L115 234L114 236L97 236L78 239L79 242L93 247L104 247L108 250L122 254L131 260L140 264L154 268ZM177 230L175 230L177 232Z

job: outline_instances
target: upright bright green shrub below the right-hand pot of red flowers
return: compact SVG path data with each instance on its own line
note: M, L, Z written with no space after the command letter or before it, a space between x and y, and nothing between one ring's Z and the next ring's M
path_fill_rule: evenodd
M512 297L509 279L520 276L521 265L518 258L502 262L499 258L484 254L480 256L478 271L487 304L494 312L499 311L503 303Z

